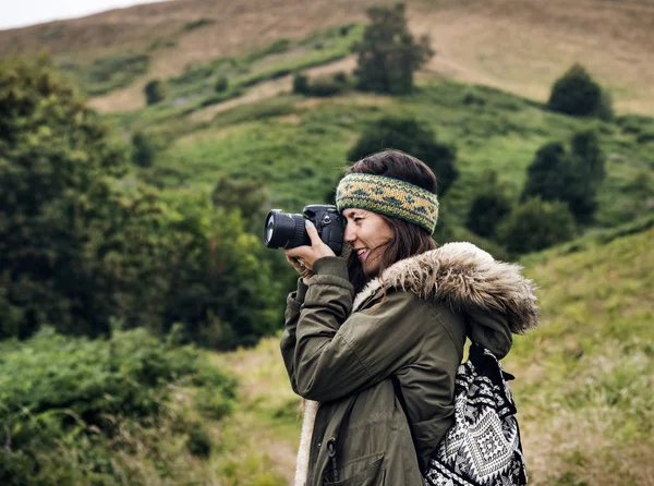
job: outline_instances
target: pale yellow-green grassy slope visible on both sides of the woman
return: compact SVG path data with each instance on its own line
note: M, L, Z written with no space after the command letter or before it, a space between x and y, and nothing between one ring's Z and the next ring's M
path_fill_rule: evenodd
M511 386L530 484L654 484L654 229L647 226L608 244L585 239L580 251L535 255L525 269L540 285L542 324L516 338L504 365L517 376ZM252 434L230 454L246 460L251 441L263 437L265 446L254 450L290 478L301 421L277 339L216 361L241 376L232 427Z

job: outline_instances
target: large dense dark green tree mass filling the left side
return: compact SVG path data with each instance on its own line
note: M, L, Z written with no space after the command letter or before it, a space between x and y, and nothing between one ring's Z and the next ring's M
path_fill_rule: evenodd
M119 318L226 349L274 329L277 285L239 212L117 179L125 150L46 61L0 75L0 337L106 335Z

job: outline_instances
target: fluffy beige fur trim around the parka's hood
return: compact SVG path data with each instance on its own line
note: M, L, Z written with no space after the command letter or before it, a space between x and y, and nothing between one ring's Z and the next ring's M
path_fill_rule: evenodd
M401 289L440 301L455 312L474 308L505 314L511 331L520 333L538 324L536 285L520 270L471 243L447 243L388 267L356 295L353 312L382 288Z

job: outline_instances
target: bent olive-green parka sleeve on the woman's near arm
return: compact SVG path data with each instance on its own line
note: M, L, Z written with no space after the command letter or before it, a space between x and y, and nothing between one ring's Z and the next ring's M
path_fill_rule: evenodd
M294 328L290 368L296 393L335 400L375 385L414 359L421 337L412 330L424 328L415 324L429 318L428 304L389 290L382 303L350 315L353 288L344 260L320 258L314 272Z

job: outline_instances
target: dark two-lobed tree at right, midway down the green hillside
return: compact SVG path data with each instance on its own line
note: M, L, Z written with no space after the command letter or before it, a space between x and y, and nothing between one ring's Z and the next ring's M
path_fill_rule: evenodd
M606 177L605 157L592 131L576 133L571 150L562 144L542 146L528 169L522 198L538 196L544 201L561 201L578 222L589 222L596 210L595 201Z

